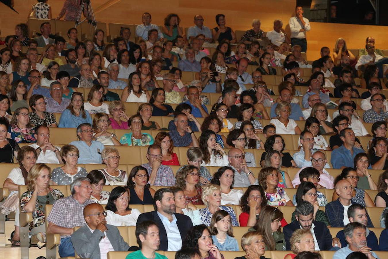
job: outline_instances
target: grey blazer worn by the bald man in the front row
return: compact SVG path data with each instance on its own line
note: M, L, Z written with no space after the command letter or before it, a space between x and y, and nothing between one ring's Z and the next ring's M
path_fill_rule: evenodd
M106 224L106 235L109 238L115 251L128 251L129 246L120 235L119 230L113 226ZM104 233L95 229L92 233L88 226L81 227L71 235L71 242L78 256L82 258L100 259L99 243L104 237Z

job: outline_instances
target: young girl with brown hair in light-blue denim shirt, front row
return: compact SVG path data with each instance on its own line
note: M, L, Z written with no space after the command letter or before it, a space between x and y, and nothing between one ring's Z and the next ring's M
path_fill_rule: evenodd
M220 251L239 250L237 240L236 238L233 238L232 224L230 224L230 216L227 211L216 211L211 218L209 229L213 244L216 245Z

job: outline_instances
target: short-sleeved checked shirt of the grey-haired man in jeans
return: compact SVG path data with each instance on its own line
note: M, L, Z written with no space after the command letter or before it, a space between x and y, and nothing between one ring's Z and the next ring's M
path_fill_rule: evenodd
M47 221L63 228L83 226L86 223L83 218L83 209L90 203L95 202L93 200L87 200L81 204L78 200L74 199L73 196L56 200L49 216L47 217ZM61 238L70 236L71 235L63 235Z

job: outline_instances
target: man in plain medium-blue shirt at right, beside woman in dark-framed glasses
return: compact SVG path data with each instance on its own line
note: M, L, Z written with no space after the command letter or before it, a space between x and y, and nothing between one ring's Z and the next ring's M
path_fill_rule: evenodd
M333 165L334 169L353 167L354 157L358 153L363 153L364 150L354 146L356 137L352 129L346 128L341 130L340 138L343 142L343 145L331 152L331 164Z

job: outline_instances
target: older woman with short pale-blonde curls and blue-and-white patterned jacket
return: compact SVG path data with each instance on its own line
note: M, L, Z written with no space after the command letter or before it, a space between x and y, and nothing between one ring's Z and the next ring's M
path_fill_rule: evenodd
M225 210L230 215L230 223L234 227L239 226L237 216L231 207L221 205L221 188L216 184L208 184L202 189L202 201L206 208L200 209L202 224L210 226L211 218L217 210Z

